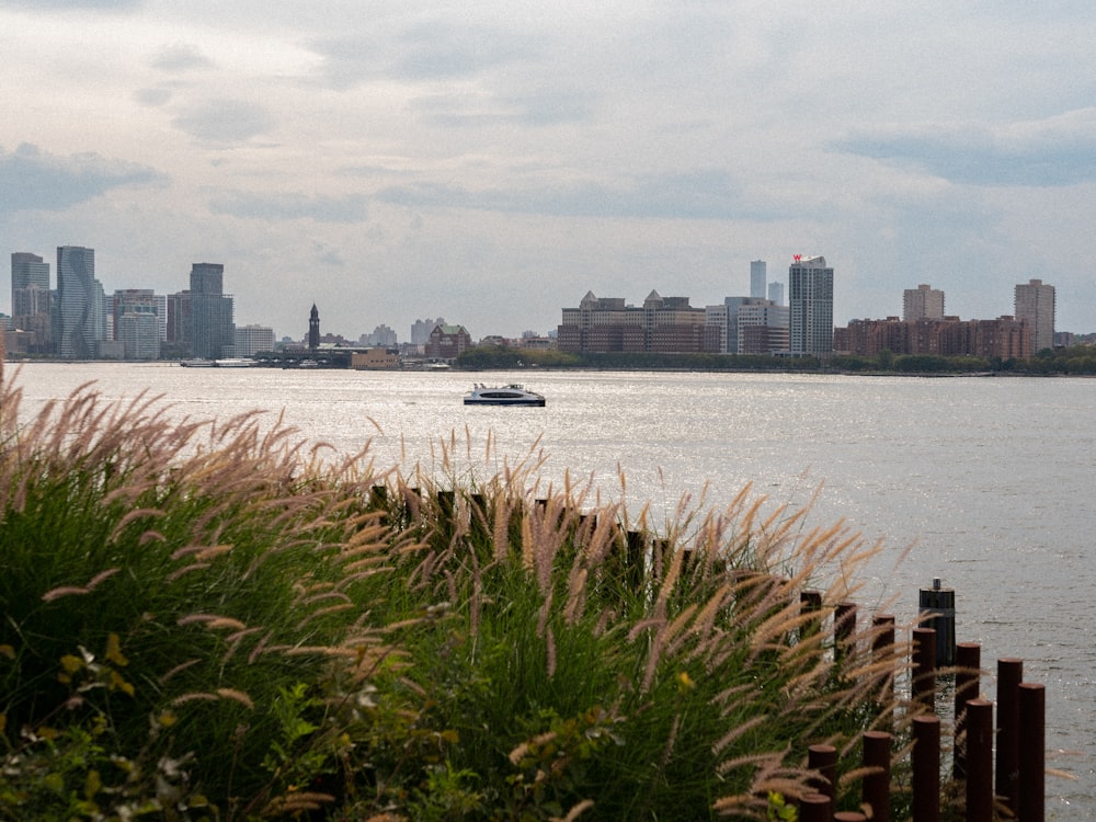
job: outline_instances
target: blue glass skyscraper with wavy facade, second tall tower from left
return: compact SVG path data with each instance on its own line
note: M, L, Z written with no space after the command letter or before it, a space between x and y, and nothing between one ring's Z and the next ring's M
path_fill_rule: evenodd
M95 250L57 248L57 353L62 357L98 356L106 336L103 285L95 279Z

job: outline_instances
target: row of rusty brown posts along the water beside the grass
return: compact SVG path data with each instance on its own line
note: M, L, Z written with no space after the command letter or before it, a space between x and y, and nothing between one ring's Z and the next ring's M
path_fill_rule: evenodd
M410 489L418 494L416 489ZM407 492L407 490L404 491ZM384 492L375 502L383 502ZM454 511L454 492L438 491L442 510ZM480 511L481 496L471 500ZM537 500L541 510L547 501ZM586 517L581 517L586 521ZM589 525L589 523L587 523ZM648 546L649 535L628 530L621 548L625 562L639 571L648 547L655 552L666 550L664 540ZM955 595L940 589L934 580L932 590L922 590L922 627L913 629L911 660L911 698L925 709L913 718L912 822L940 821L941 723L937 715L940 675L955 678L954 740L951 772L966 791L966 822L993 822L1015 819L1017 822L1044 821L1046 772L1046 689L1042 685L1024 682L1024 663L1018 659L997 660L997 718L994 726L991 701L981 699L981 646L956 642ZM822 610L822 593L803 591L800 607L804 612ZM856 640L857 605L841 603L834 610L834 651L842 653ZM886 654L893 648L895 623L889 614L872 617L872 650ZM954 663L954 665L952 665ZM893 678L889 686L893 687ZM996 745L994 745L996 742ZM817 770L817 792L799 799L801 822L890 822L891 765L893 735L884 731L867 731L863 737L863 802L864 811L835 811L834 786L837 774L837 751L827 744L812 745L808 752L808 768ZM994 755L995 754L995 755ZM997 813L1000 811L1000 813Z

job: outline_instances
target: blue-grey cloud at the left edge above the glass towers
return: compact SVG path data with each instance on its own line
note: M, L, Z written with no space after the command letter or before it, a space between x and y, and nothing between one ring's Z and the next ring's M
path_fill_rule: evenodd
M58 157L24 142L13 152L0 148L0 213L58 212L112 189L165 180L145 165L94 153Z

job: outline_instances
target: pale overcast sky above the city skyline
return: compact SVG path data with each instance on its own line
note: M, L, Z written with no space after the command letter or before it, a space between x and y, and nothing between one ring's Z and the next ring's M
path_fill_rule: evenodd
M838 324L1040 278L1094 332L1094 42L1092 0L0 0L0 251L224 263L278 336L546 333L795 254Z

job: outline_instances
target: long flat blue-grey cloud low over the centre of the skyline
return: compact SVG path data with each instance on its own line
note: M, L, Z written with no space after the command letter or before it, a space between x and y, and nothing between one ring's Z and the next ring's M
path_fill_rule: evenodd
M392 186L377 198L411 207L470 208L570 217L657 219L768 219L745 204L741 186L726 171L651 174L610 187L600 183L471 191L437 183Z

